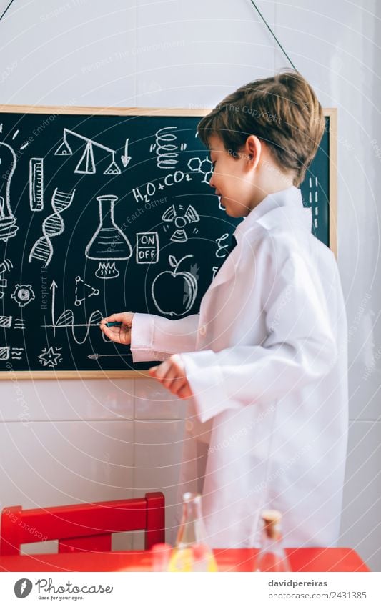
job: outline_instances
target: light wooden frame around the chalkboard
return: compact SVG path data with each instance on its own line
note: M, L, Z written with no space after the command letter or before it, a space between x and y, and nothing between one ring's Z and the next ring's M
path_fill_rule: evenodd
M151 108L151 107L78 107L78 106L0 106L3 114L87 114L92 116L168 116L203 117L211 108ZM337 257L337 109L326 108L324 115L329 126L329 197L330 197L330 249ZM147 371L1 371L0 380L92 380L92 379L137 379L149 377Z

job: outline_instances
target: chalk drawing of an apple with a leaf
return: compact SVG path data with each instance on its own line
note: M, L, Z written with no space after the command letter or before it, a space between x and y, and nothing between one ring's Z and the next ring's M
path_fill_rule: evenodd
M169 255L168 261L174 269L173 272L169 270L160 272L152 282L152 299L157 310L162 314L167 316L187 314L196 300L199 277L197 264L191 265L189 272L178 272L179 265L188 257L193 257L193 255L185 255L178 262L174 255ZM164 302L163 296L168 297L167 294L169 294L169 300Z

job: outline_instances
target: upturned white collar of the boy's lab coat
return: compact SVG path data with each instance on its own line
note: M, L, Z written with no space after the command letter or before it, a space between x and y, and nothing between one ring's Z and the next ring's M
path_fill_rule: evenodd
M279 212L279 209L282 210ZM284 226L287 220L290 221L290 225L297 225L311 231L312 210L303 207L302 192L295 186L265 197L237 226L234 236L239 242L256 223L269 228L279 223Z

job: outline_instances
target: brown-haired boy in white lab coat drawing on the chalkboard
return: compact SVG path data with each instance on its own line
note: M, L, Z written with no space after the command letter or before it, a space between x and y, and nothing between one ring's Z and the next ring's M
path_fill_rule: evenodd
M263 508L287 546L334 546L347 445L347 324L335 257L297 186L324 119L295 72L259 79L199 123L210 185L245 217L199 315L112 315L107 337L189 398L182 488L202 492L209 543L253 546ZM107 321L122 327L107 328ZM179 352L181 352L179 354Z

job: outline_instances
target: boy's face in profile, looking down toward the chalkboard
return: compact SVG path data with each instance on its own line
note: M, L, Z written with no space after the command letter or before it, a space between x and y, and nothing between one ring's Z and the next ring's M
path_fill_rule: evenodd
M253 208L253 183L247 155L228 151L217 135L210 137L209 147L213 164L209 185L216 190L222 207L230 217L246 217Z

